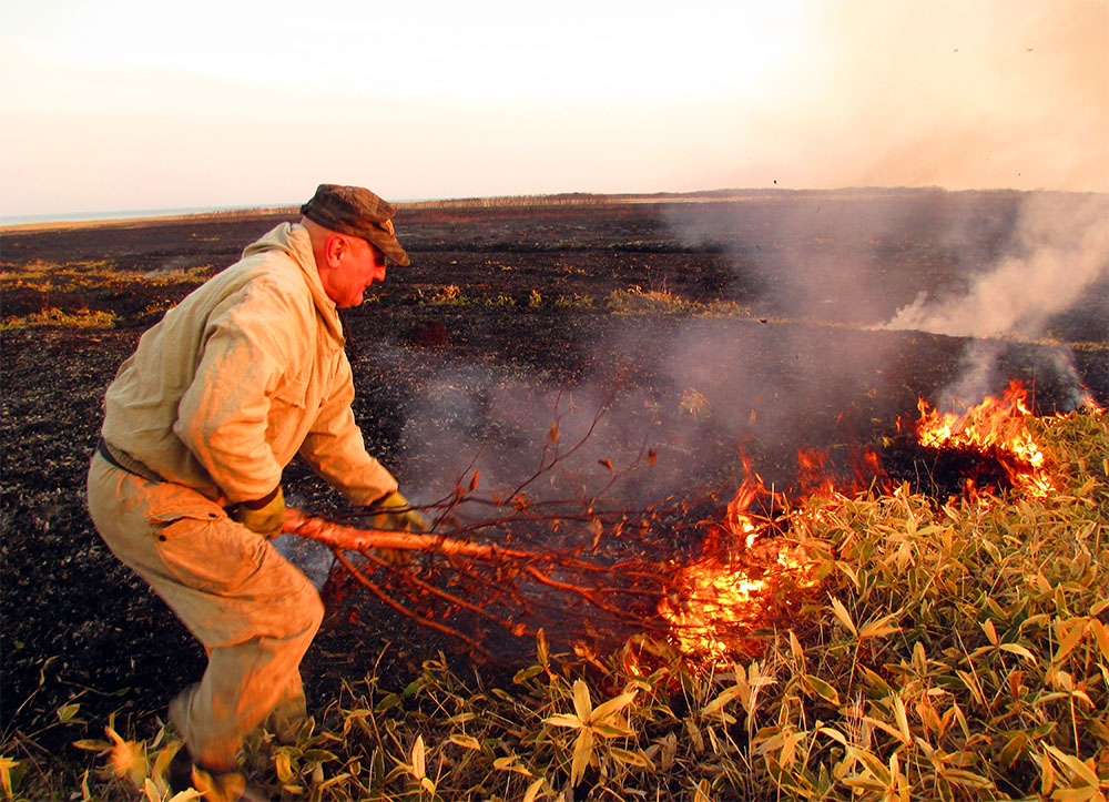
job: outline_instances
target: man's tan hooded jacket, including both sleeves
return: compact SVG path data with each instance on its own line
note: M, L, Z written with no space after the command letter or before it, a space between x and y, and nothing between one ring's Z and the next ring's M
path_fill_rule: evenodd
M367 451L338 309L306 229L283 223L139 341L103 437L221 505L265 496L299 453L355 505L397 489Z

